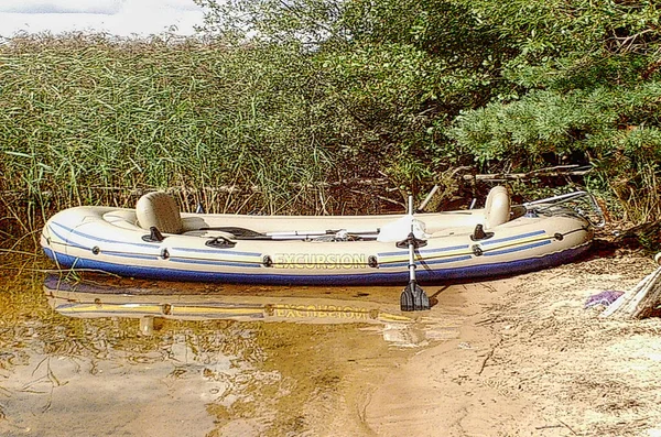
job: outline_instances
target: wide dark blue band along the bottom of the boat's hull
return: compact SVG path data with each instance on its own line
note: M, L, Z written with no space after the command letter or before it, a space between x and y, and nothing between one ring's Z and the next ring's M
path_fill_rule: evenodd
M481 265L463 267L425 270L422 265L418 265L415 274L420 283L440 283L444 281L498 277L559 265L575 259L588 248L589 243L586 243L574 249L567 249L559 253L552 253L540 258L502 263L485 263ZM76 269L99 270L128 277L143 277L165 281L223 282L269 285L401 285L409 281L408 270L402 270L399 272L383 272L379 269L375 269L373 273L337 275L293 275L286 273L266 273L270 269L264 269L264 273L214 273L99 262L95 260L69 256L63 253L55 253L47 248L44 248L44 252L48 258L56 261L61 267L68 269L75 266Z

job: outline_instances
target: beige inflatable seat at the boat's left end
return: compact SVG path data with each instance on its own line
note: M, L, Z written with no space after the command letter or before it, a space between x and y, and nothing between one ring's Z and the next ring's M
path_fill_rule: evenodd
M182 233L184 225L174 197L164 192L148 193L136 205L138 225L145 230L155 227L163 233Z

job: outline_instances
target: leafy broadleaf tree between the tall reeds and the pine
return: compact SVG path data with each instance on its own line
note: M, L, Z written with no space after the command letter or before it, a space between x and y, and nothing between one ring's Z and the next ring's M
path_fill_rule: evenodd
M489 101L509 56L452 1L197 2L209 11L206 30L228 41L300 44L318 72L314 106L329 142L414 192L463 160L444 125Z

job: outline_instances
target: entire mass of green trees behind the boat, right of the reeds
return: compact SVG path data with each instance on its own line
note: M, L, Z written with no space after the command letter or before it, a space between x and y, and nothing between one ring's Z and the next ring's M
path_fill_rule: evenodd
M470 161L487 172L589 162L597 176L588 184L627 209L657 177L661 6L653 0L224 4L243 14L210 14L216 31L314 47L315 62L330 66L326 98L365 133L350 131L353 148L390 156L400 182ZM627 198L618 194L624 177Z

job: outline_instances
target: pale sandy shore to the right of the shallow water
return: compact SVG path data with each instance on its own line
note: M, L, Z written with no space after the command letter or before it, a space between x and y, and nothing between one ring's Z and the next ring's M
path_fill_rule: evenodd
M599 317L603 307L584 307L596 293L631 288L657 265L602 252L440 293L440 307L464 302L459 335L371 386L357 406L370 433L661 436L661 321L614 320Z

